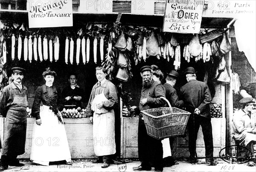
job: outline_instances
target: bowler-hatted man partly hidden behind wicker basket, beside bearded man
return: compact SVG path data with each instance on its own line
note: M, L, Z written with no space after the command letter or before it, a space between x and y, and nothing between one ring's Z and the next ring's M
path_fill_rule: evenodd
M166 89L166 99L169 100L172 107L182 108L184 105L183 100L179 100L177 95L176 89L174 88L177 79L179 78L179 73L175 70L170 71L167 73L166 83L163 84L164 88ZM171 152L173 152L173 143L175 138L169 138ZM172 153L173 154L173 153ZM170 165L174 165L175 161L173 156L168 160Z

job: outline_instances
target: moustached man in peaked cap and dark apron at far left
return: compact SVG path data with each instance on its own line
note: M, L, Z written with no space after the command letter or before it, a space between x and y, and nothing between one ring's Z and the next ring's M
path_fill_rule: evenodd
M13 82L0 95L0 113L6 118L0 171L8 166L23 166L17 159L25 152L27 89L22 84L25 69L12 68Z

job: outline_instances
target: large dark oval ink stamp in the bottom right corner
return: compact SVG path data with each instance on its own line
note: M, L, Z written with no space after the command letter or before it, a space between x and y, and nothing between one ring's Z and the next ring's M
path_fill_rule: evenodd
M226 153L224 153L225 151ZM221 149L219 157L227 163L247 163L253 154L247 147L231 145Z

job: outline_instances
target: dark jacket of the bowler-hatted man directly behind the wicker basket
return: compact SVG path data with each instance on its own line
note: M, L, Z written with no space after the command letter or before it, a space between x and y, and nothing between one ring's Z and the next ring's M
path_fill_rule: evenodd
M173 88L169 83L163 84L166 90L166 99L170 102L172 107L181 108L184 106L183 100L179 100L176 89Z

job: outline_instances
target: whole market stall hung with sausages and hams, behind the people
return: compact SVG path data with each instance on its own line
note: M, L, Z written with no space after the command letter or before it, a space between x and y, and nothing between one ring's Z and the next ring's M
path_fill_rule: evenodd
M213 14L214 10L203 10L198 34L163 32L163 14L126 13L119 16L120 22L115 22L117 13L114 12L73 12L72 27L29 28L27 11L0 11L0 63L3 64L1 89L12 82L9 78L11 68L23 66L27 71L24 85L28 88L31 108L36 88L44 83L41 74L46 67L51 67L57 73L55 83L60 89L69 84L68 74L75 71L78 74L78 84L85 91L86 100L80 109L66 108L62 111L70 152L72 158L95 158L92 124L84 109L96 83L95 67L105 67L108 79L116 85L119 96L122 97L119 110L116 109L116 145L121 147L120 151L117 148L117 152L123 158L137 158L138 117L137 114L126 113L122 109L131 110L130 106L139 105L142 87L140 68L155 64L164 74L175 69L181 75L175 85L179 92L179 88L186 83L182 75L184 69L193 66L198 71L197 79L206 82L211 91L214 157L218 157L219 151L230 144L233 87L230 85L232 45L229 37L232 29L229 28L234 20L230 15L216 16ZM193 43L199 49L192 49ZM30 118L29 111L27 117L26 153L20 158L30 156L35 119ZM0 118L0 122L3 140L4 119ZM185 133L186 135L175 140L173 154L177 157L189 156L187 130ZM201 128L197 152L198 157L205 156Z

